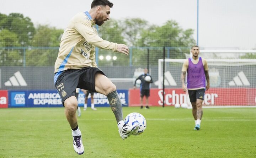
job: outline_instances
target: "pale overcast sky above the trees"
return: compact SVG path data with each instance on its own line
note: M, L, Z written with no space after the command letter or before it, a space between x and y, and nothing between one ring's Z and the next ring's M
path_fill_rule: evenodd
M194 29L197 0L110 0L110 18L139 17L161 26L177 21ZM0 0L0 13L22 13L37 24L64 29L76 13L89 11L92 0ZM199 40L206 49L256 48L256 0L199 0Z

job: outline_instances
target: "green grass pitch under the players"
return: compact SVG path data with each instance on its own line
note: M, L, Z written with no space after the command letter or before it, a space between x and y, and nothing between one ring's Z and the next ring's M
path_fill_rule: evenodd
M85 153L74 152L64 108L0 109L0 158L255 158L256 108L204 108L201 130L192 110L123 108L144 115L142 135L119 137L110 108L82 111Z

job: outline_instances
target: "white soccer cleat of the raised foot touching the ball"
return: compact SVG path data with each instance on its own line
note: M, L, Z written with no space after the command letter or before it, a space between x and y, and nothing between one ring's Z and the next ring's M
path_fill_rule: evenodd
M122 139L126 139L132 134L136 134L139 129L139 124L134 124L132 126L128 126L124 123L124 121L119 121L117 124L119 135Z

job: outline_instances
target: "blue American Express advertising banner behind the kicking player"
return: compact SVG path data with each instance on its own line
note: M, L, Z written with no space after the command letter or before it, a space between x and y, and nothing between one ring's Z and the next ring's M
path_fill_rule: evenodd
M117 90L122 105L128 106L128 90ZM4 92L2 92L4 94ZM0 94L2 94L0 91ZM9 94L9 106L12 107L62 107L62 100L57 92L57 90L24 90L24 91L8 91ZM2 95L1 95L2 96ZM7 101L4 101L6 98ZM7 91L6 97L2 98L2 103L7 108L8 99L7 99ZM1 99L1 97L0 97ZM79 93L78 103L79 106L84 106L85 94L83 92ZM1 100L0 100L1 101ZM90 106L90 96L88 99L88 106ZM95 107L108 107L108 99L103 94L94 93L94 104Z

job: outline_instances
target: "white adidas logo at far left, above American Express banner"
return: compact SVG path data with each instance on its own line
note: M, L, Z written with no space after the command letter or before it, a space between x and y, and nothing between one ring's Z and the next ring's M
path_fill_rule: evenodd
M27 83L22 77L20 71L17 71L14 73L14 76L9 78L9 81L5 82L5 86L27 86Z

